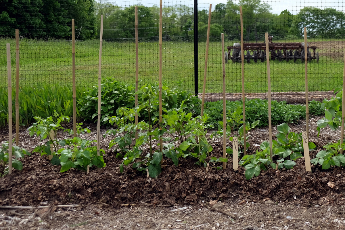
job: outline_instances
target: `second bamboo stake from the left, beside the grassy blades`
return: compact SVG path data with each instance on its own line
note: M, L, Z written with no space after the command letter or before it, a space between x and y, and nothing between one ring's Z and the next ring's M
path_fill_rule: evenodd
M16 29L16 145L19 146L19 29Z

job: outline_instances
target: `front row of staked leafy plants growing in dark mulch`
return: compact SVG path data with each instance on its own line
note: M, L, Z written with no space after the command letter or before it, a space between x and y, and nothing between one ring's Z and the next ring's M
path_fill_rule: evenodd
M169 90L164 87L165 99L168 101ZM336 89L339 91L339 89ZM178 166L180 159L193 159L195 164L206 167L210 164L211 168L223 169L221 164L227 162L228 158L233 155L233 150L230 146L227 147L227 158L217 157L213 154L212 144L216 138L221 138L223 135L223 123L218 122L218 131L211 133L208 137L207 133L210 128L215 128L209 124L210 118L207 114L204 116L193 116L190 110L190 97L178 102L174 100L174 106L167 109L163 108L164 115L162 122L162 129L154 125L157 121L157 111L159 107L158 90L155 86L144 85L136 94L141 98L141 103L135 108L128 108L119 106L112 116L105 116L102 121L114 126L108 130L106 135L112 139L109 143L109 148L115 147L114 154L116 157L122 159L120 164L120 171L123 172L126 166L131 166L139 172L148 171L152 178L157 177L161 168L162 159L171 159L175 166ZM336 130L341 122L341 96L342 91L339 91L331 100L324 100L321 104L321 109L325 110L325 118L317 122L318 130L329 125L332 130ZM86 96L84 96L85 99ZM176 96L175 96L176 97ZM81 99L82 101L82 99ZM92 101L92 100L88 100ZM188 104L189 103L189 104ZM169 103L167 103L169 104ZM315 103L314 103L315 104ZM103 105L104 106L104 105ZM273 140L273 159L270 158L269 143L264 141L260 144L260 148L253 154L244 155L244 150L249 150L249 138L246 136L246 145L244 144L243 135L243 111L241 106L237 106L235 111L231 111L229 107L226 113L226 138L233 141L234 137L238 140L238 154L242 159L239 165L246 169L245 176L249 180L254 176L258 176L262 170L268 168L273 169L291 169L296 165L296 160L303 157L304 148L302 144L302 133L290 132L290 128L286 123L277 126L278 133ZM82 109L81 109L82 111ZM142 119L137 125L135 124L135 114L144 117L148 115L148 123ZM70 135L72 131L62 127L62 123L69 121L67 116L59 116L56 111L53 111L53 116L47 119L35 117L37 120L29 128L30 136L36 134L40 136L41 140L46 140L46 144L37 146L33 152L38 152L43 155L51 155L51 163L61 165L61 172L65 172L71 168L86 170L88 166L105 167L103 161L104 150L101 150L100 156L97 156L96 146L92 145L90 140L82 140L75 138L57 138L57 132L68 132ZM259 120L252 123L246 123L246 130L256 128L259 125ZM81 128L79 123L77 126L77 134L82 132L90 133L90 130ZM136 130L139 132L139 137L135 139ZM53 131L53 137L48 134ZM172 135L166 135L170 133ZM160 151L158 140L163 139L162 150ZM134 140L134 142L133 142ZM155 142L156 141L156 142ZM50 150L50 145L53 145L53 151ZM149 150L146 149L146 144L149 145ZM309 150L315 150L316 145L312 142L308 143ZM317 153L316 158L311 161L314 165L321 165L322 169L329 169L331 166L345 166L345 156L342 150L345 149L345 144L340 144L338 140L335 143L329 143L324 146L324 150ZM19 151L19 150L18 150ZM20 150L16 160L25 155L29 155L27 151ZM2 157L2 159L1 159ZM8 159L8 157L7 157ZM6 144L3 145L3 150L0 154L0 163L6 166ZM18 163L18 162L17 162ZM18 163L19 164L19 163ZM17 165L18 166L18 165ZM165 165L166 166L166 165ZM20 168L20 167L19 167ZM1 172L0 172L1 173ZM2 172L2 175L6 172Z

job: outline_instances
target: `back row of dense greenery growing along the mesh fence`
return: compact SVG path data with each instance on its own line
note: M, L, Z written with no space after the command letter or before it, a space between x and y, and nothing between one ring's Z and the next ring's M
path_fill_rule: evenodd
M158 92L157 84L144 84L142 88L150 87L154 92ZM177 108L183 100L189 112L193 116L200 114L200 100L193 97L190 93L181 89L181 83L177 87L162 87L162 106L168 110ZM78 86L77 94L77 119L79 121L95 122L98 106L98 86L90 88ZM7 88L0 88L0 127L4 127L8 120L8 98ZM107 116L116 115L116 109L119 107L134 108L135 105L135 87L133 85L122 84L113 78L102 79L101 83L101 116L102 120ZM12 88L12 113L15 117L15 90ZM138 98L139 105L143 103L141 97ZM226 102L227 111L235 112L236 108L242 105L241 101ZM40 84L35 87L23 86L19 91L19 122L20 125L29 125L34 122L34 117L49 117L53 111L60 116L69 116L73 114L72 89L68 86L58 84ZM220 111L223 110L223 102L206 102L205 114L210 117L208 124L217 126L222 121ZM309 114L322 115L324 109L321 103L312 101L309 103ZM152 114L152 122L158 116L158 112ZM272 101L272 124L277 125L283 122L294 123L299 119L305 118L305 106L287 104L286 102ZM148 112L143 111L140 117L143 121L148 121ZM268 125L268 102L263 99L246 100L246 120L250 123L259 121L256 127L265 127ZM103 125L108 124L103 121Z

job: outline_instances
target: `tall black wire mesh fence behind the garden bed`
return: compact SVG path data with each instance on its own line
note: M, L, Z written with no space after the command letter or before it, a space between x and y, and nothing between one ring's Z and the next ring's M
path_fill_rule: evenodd
M163 1L162 66L166 85L181 85L201 93L205 65L209 3L212 3L206 94L220 99L222 57L220 33L225 33L226 92L240 99L241 63L234 46L240 42L239 6L243 6L245 92L248 98L267 98L266 61L262 59L265 32L272 38L269 50L273 99L303 102L303 28L307 27L311 60L308 63L310 99L322 99L342 84L345 11L342 2L287 1ZM6 43L11 44L12 75L15 73L14 31L20 34L20 85L42 82L71 85L71 19L76 23L77 85L97 83L100 15L104 16L102 77L135 82L134 6L138 5L140 84L158 81L159 1L42 0L0 3L0 87L7 86ZM197 27L197 29L196 29ZM197 33L194 33L194 30ZM196 36L195 36L196 35ZM197 41L196 40L197 37ZM251 45L250 45L250 44ZM195 51L197 55L195 55ZM238 51L237 49L236 51ZM295 52L297 54L295 54ZM315 51L315 52L314 52ZM274 54L273 54L274 52ZM264 53L265 54L265 53ZM195 65L197 63L197 65ZM196 69L197 67L197 69ZM14 78L13 78L14 79ZM197 84L195 84L197 83ZM196 87L197 86L197 87Z

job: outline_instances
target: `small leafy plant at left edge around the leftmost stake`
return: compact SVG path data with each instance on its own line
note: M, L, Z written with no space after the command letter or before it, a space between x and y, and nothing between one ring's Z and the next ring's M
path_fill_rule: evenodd
M8 174L8 141L2 143L0 146L0 177ZM16 145L12 146L12 167L17 170L23 169L23 164L21 163L20 159L24 158L25 155L30 156L31 154L25 150L24 148L20 148Z

